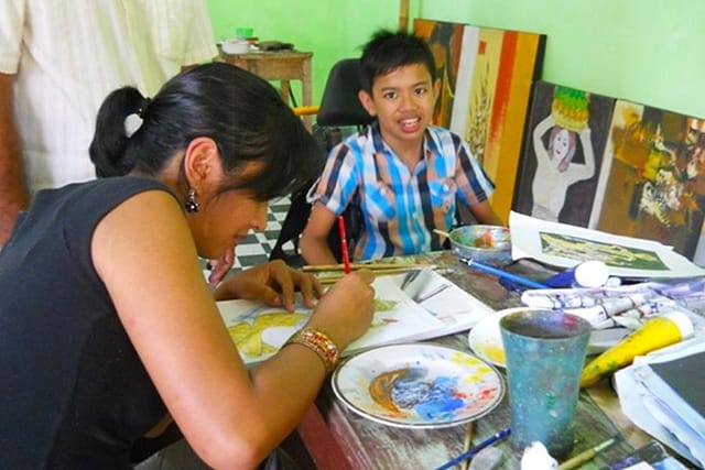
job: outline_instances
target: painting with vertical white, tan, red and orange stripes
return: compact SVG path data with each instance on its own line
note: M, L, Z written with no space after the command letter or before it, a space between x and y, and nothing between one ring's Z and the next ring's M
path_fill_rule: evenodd
M495 211L511 209L531 89L545 36L466 25L451 130L462 135L497 188Z

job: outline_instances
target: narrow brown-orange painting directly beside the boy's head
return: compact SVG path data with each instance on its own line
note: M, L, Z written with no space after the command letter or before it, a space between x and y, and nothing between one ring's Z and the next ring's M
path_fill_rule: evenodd
M451 113L457 84L463 43L463 24L435 20L414 20L414 34L425 39L436 63L436 77L441 79L441 94L433 112L433 123L451 127Z

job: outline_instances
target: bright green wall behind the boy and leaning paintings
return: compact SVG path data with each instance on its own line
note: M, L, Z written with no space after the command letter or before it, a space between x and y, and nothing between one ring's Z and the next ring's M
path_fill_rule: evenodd
M218 40L252 26L260 40L312 51L314 103L338 58L399 24L397 0L208 4ZM410 17L544 33L543 79L705 118L703 0L411 0Z

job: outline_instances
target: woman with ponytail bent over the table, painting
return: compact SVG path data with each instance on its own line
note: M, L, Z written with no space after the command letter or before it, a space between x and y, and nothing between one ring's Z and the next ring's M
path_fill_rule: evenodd
M130 468L173 422L213 468L254 468L296 426L338 351L368 328L368 271L323 294L272 262L209 287L197 256L262 230L267 201L322 156L276 90L207 64L99 110L100 178L37 193L0 252L0 455L7 468ZM215 300L314 307L248 370ZM317 299L317 300L316 300Z

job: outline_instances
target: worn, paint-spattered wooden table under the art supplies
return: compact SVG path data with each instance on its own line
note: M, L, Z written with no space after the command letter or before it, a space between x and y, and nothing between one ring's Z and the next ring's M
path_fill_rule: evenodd
M494 309L521 305L519 295L508 292L494 276L470 271L449 252L432 253L415 261L447 266L444 275L459 287L481 298ZM512 266L519 274L536 274L539 265L520 263ZM550 272L545 272L545 275ZM433 340L468 351L467 332ZM509 426L509 401L474 424L473 444ZM608 383L582 391L576 412L576 444L574 453L596 446L621 433L625 441L608 449L604 457L622 457L648 442L650 437L633 426L620 409L616 394ZM306 413L297 428L297 440L306 448L303 469L433 469L463 451L465 426L443 429L404 429L384 426L360 417L341 405L329 386L321 393L316 406ZM503 469L518 469L520 455L511 448L510 439L499 444L507 456ZM605 464L601 458L582 468L597 469Z

